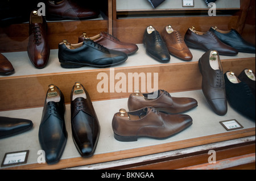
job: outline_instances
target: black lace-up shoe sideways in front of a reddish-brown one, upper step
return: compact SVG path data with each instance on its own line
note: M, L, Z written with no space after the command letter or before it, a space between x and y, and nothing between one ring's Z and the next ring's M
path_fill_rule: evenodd
M126 53L109 50L89 39L78 44L70 44L67 41L59 44L59 61L63 68L106 68L122 64L127 58Z

